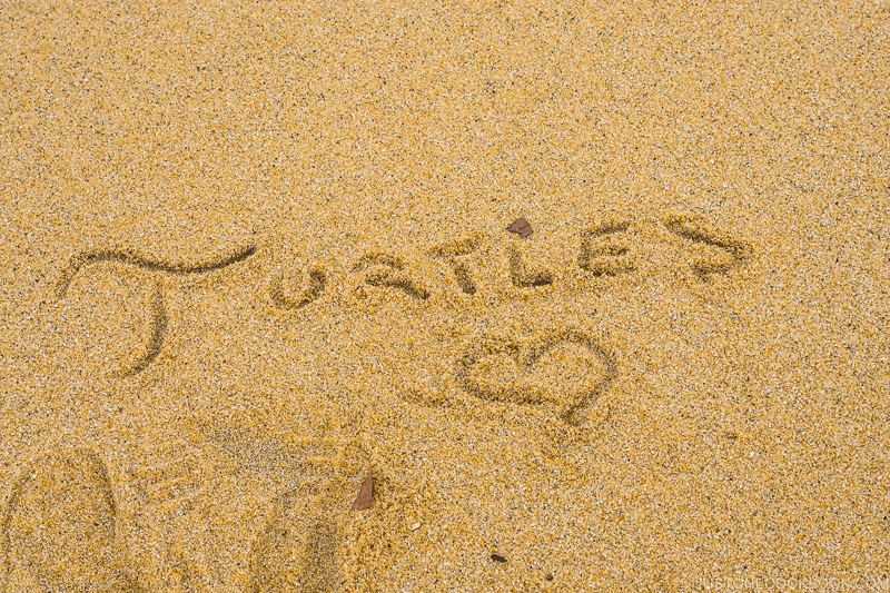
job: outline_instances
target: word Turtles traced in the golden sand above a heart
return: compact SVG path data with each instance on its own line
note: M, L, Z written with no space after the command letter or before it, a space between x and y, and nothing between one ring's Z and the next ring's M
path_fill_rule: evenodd
M726 274L735 266L749 259L752 249L749 244L716 228L713 224L695 215L672 215L659 221L671 234L682 237L692 244L711 248L713 253L699 256L691 263L695 278L706 283L713 275ZM580 233L577 267L590 277L614 277L639 274L635 246L629 238L631 223L613 221L586 228ZM532 234L531 224L525 218L514 221L508 230L522 237ZM425 251L427 257L446 263L454 274L461 294L474 296L479 293L472 263L473 254L482 250L483 240L478 234L463 239L436 245ZM121 376L135 375L147 368L160 354L165 336L168 333L168 313L165 303L164 278L167 275L195 275L222 269L246 260L256 254L257 248L248 245L222 256L195 263L167 263L146 257L132 249L98 250L80 254L72 258L61 274L56 287L59 298L65 298L73 279L82 270L92 265L111 261L139 268L151 274L154 290L147 304L148 329L139 352L125 365ZM558 278L554 271L535 267L526 263L523 251L516 245L506 249L508 264L507 279L514 288L535 290L553 286ZM398 255L388 253L367 253L358 258L349 273L363 275L360 284L370 288L393 289L417 302L426 302L434 294L433 283L411 266ZM281 275L270 279L268 296L271 304L285 310L298 310L322 299L326 294L339 291L332 286L328 274L323 266L312 265L308 268L308 285L296 297L288 296L283 288Z

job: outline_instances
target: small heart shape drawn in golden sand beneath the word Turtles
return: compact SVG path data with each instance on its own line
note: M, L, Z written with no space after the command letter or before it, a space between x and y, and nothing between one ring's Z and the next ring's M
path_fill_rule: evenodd
M555 404L570 424L616 375L614 357L578 329L550 332L528 340L487 337L471 343L456 360L456 377L479 399Z

